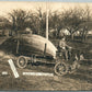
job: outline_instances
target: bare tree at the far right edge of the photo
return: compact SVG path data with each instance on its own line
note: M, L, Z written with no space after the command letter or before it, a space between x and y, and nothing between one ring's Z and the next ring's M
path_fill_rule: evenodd
M80 25L82 28L82 41L87 41L88 32L92 28L92 13L90 8L87 5L85 9L82 9L82 21L83 23Z

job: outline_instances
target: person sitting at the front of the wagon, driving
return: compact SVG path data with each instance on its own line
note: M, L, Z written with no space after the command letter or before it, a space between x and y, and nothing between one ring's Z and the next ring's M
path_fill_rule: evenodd
M69 50L70 49L71 49L71 47L66 44L66 38L62 37L59 42L59 50L61 51L61 54L66 60L69 59L69 55L70 55Z

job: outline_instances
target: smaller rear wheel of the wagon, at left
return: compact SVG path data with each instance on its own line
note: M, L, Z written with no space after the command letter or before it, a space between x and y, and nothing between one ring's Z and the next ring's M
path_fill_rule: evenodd
M27 65L27 59L24 56L20 56L18 59L18 67L25 68Z

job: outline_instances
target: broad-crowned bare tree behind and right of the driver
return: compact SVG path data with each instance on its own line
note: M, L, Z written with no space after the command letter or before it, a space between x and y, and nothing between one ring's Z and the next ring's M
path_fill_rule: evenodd
M62 13L64 27L70 32L71 38L73 39L74 32L80 30L82 23L81 11L77 8L69 9Z

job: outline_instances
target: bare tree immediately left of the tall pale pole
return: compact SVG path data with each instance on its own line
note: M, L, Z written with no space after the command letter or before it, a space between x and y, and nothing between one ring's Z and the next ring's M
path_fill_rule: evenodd
M45 36L46 12L43 12L41 7L36 9L36 12L31 13L30 11L27 25L34 34Z

